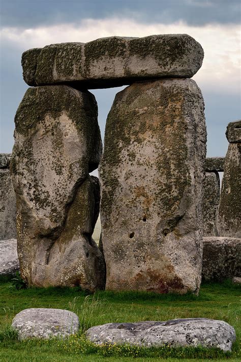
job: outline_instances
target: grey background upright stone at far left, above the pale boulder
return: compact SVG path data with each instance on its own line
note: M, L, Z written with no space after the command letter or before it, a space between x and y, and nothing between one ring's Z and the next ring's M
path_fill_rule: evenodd
M16 235L16 197L12 178L9 169L0 169L0 240L13 239Z

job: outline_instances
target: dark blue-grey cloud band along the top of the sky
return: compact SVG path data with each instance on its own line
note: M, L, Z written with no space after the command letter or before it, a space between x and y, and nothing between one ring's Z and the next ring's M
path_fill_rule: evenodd
M4 26L36 27L117 16L146 23L239 23L239 0L2 0Z

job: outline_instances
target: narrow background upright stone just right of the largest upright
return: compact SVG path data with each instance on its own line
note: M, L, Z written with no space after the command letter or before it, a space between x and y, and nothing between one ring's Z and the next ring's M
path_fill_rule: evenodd
M220 198L218 172L206 172L203 181L203 236L216 236Z

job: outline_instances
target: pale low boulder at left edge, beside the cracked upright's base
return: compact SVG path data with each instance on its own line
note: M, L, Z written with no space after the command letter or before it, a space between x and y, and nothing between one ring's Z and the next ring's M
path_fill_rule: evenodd
M0 275L15 274L19 270L17 240L0 240Z

